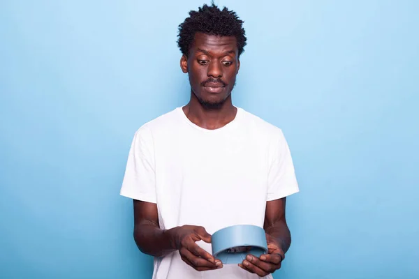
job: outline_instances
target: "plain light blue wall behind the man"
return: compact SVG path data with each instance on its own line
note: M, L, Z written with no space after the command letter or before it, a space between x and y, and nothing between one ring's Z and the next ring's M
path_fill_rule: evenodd
M216 1L233 92L284 130L301 192L275 278L419 278L419 1ZM135 130L189 99L201 1L0 2L0 277L151 278L119 196Z

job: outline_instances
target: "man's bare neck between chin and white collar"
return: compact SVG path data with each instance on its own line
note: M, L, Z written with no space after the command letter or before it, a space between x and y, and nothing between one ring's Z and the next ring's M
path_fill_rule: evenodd
M202 105L194 93L191 100L183 107L186 117L201 128L215 130L226 126L235 119L237 108L233 106L231 95L216 109L208 109Z

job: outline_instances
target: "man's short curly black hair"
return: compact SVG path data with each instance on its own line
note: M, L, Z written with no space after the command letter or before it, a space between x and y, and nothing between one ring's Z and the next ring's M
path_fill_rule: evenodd
M211 6L204 4L198 11L191 10L189 17L179 24L178 29L177 46L186 57L189 56L189 47L191 47L196 33L235 36L239 56L244 52L244 46L247 44L243 21L233 10L228 10L226 7L220 10L214 2Z

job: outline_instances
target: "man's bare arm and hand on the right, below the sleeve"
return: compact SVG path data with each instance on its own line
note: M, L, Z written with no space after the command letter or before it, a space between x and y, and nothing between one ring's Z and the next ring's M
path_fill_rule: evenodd
M268 252L260 257L248 255L239 266L258 276L267 276L281 268L285 252L291 245L291 233L285 219L286 197L266 203L265 224Z

